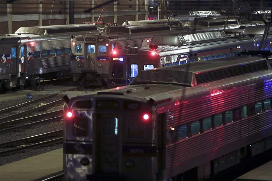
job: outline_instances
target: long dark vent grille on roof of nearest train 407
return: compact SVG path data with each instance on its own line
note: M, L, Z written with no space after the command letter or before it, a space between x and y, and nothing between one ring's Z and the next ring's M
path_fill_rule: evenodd
M235 77L247 73L252 73L261 70L267 70L267 62L260 61L245 65L237 65L234 67L223 68L219 70L213 70L210 72L203 72L195 74L197 84L203 84L207 82L217 81L224 78Z

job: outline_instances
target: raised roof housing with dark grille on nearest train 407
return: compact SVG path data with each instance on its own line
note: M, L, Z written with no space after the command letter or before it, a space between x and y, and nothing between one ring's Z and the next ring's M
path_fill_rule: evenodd
M179 84L197 86L224 78L268 70L266 59L256 57L228 57L218 60L193 62L185 65L141 71L134 84Z

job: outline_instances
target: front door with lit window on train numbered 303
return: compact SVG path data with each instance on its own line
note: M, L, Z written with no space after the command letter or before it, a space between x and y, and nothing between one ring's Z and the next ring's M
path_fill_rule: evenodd
M96 70L96 44L87 43L85 52L86 52L86 62L85 62L86 69Z

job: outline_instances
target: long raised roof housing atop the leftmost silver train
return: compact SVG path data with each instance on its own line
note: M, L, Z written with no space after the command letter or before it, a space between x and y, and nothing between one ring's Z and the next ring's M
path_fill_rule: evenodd
M36 35L50 35L57 33L72 33L72 32L92 32L98 31L98 27L93 24L68 24L68 25L52 25L52 26L37 26L37 27L21 27L15 34L36 34Z

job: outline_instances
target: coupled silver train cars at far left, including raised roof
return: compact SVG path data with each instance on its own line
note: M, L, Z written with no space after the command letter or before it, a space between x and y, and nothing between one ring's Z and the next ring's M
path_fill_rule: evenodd
M71 70L71 35L98 32L95 25L21 27L1 35L0 90L23 86L25 79L55 78Z

